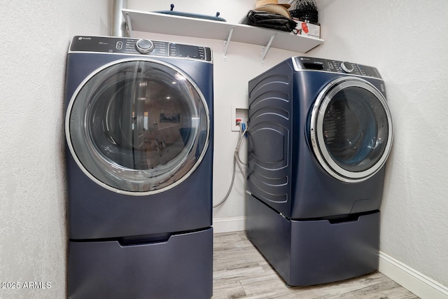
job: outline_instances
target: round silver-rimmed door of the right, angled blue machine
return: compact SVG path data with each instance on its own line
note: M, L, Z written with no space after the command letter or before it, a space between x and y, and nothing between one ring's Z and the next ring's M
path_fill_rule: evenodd
M339 78L318 95L311 112L311 144L336 179L364 181L381 169L392 145L386 99L360 78Z

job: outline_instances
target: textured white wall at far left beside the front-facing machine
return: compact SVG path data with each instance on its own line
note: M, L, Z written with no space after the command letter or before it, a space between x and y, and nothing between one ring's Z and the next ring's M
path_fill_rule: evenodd
M65 57L73 35L108 34L109 1L0 7L0 298L65 298Z

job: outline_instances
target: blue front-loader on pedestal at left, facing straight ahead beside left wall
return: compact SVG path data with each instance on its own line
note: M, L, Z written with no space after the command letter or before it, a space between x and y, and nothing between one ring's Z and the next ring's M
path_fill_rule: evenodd
M69 298L210 298L211 49L76 36L65 101Z

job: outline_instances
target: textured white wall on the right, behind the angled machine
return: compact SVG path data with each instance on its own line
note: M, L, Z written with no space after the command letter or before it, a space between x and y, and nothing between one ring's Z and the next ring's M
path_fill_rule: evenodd
M448 1L318 0L316 57L370 64L395 130L381 251L448 286Z

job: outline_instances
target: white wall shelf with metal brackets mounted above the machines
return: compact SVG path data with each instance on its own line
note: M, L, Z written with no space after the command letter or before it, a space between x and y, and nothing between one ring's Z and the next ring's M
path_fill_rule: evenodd
M187 18L178 15L129 9L123 9L122 12L131 36L132 32L138 31L218 39L225 41L225 55L230 41L262 46L262 60L271 47L307 53L312 48L323 43L323 39L244 24L230 24L216 20Z

